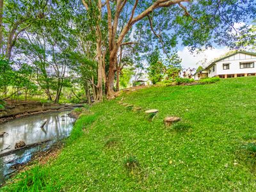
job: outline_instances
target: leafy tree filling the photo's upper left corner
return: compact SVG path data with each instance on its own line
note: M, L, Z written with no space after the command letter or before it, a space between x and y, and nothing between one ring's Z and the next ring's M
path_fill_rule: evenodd
M10 60L17 39L38 20L44 19L54 0L1 0L0 53Z

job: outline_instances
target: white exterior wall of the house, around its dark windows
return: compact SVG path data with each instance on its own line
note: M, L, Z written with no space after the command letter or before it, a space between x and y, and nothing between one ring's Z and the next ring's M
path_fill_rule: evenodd
M252 68L240 68L240 63L250 63L253 62ZM223 69L223 64L229 64L229 69ZM256 73L256 56L250 54L237 53L233 56L225 58L221 61L215 63L215 65L207 68L211 70L211 73L208 74L209 77L214 77L218 75L225 74L255 74ZM252 65L251 65L252 66ZM214 72L212 68L214 67Z

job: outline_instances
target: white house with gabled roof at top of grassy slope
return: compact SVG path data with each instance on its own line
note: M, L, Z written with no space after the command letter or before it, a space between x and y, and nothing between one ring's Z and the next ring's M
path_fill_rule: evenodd
M204 70L194 74L195 79L202 77L244 77L256 76L256 53L237 51L213 61Z

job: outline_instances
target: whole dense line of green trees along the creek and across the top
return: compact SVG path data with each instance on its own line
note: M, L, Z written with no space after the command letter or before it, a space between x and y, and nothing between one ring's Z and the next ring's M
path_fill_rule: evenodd
M59 102L64 94L101 101L141 74L145 61L153 82L163 78L156 70L175 76L180 43L193 51L231 45L239 36L250 44L253 35L248 39L246 33L255 34L255 28L234 24L255 19L254 3L0 0L0 98L39 94Z

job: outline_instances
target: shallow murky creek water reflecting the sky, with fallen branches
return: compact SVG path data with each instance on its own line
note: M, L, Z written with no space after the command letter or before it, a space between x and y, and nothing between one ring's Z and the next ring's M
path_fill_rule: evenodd
M45 143L45 145L18 150L14 154L1 157L0 184L3 183L5 175L15 171L15 168L12 168L13 164L28 162L34 152L49 148L54 141L69 136L72 131L74 118L70 118L68 113L70 111L45 113L17 118L10 122L0 124L0 132L5 131L7 133L0 138L0 154L8 152L8 150L13 150L15 143L19 141L24 141L28 145L52 139L52 141ZM44 128L41 128L45 120L47 120L47 123L44 125Z

